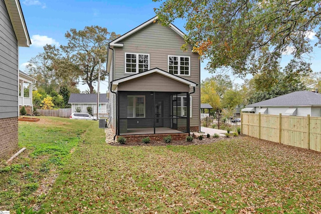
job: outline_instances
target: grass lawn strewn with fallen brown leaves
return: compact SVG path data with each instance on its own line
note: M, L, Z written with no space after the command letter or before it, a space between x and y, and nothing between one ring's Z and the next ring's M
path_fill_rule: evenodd
M14 204L20 202L22 191L37 189L37 185L16 191L17 184L8 185L8 177L15 175L22 184L25 179L22 175L30 170L32 177L57 175L47 195L37 195L39 189L31 193L30 204L42 204L46 212L53 213L321 211L320 153L248 137L197 146L115 147L105 143L104 132L97 129L96 121L54 119L53 123L70 124L56 125L54 129L59 130L56 134L54 129L47 128L43 133L52 136L51 140L43 139L43 144L54 146L54 141L68 141L61 132L69 132L68 136L77 142L73 144L71 140L58 148L76 149L72 154L58 152L62 158L50 161L57 159L54 152L43 153L39 144L25 139L25 145L32 151L17 162L23 164L25 160L25 165L29 165L20 172L11 169L9 175L0 174L5 176L0 178L1 182L7 182L1 184L0 194L4 194L3 188L12 186L17 194L10 199ZM33 128L29 126L35 125L20 123L21 130L26 128L20 135L43 137L41 132L30 133L28 129ZM38 129L44 129L43 125ZM38 155L34 156L35 153ZM42 161L47 163L49 175L41 171ZM3 203L0 200L0 210L4 209Z

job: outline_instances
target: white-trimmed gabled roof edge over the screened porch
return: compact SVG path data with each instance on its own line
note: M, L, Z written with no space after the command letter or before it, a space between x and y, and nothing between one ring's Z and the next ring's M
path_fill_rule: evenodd
M167 71L161 70L159 68L153 68L153 69L150 69L148 71L144 71L144 72L141 72L141 73L138 73L138 74L134 74L134 75L131 75L131 76L128 76L128 77L124 77L124 78L120 78L118 80L114 80L114 81L112 81L111 89L112 90L116 90L118 85L121 84L121 83L125 83L126 81L134 80L134 79L137 79L137 78L140 78L140 77L144 77L144 76L148 76L148 75L151 75L151 74L159 74L159 75L168 77L168 78L170 78L172 80L177 81L178 83L186 84L189 87L196 87L198 85L198 84L196 84L196 83L194 83L194 82L192 82L190 80L184 79L184 78L176 76L174 74L170 74Z

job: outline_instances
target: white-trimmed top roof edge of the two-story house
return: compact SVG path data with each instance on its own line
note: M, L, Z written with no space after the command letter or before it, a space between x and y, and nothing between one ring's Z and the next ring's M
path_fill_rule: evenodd
M134 34L135 32L137 32L137 31L139 31L139 30L143 29L144 27L146 27L146 26L148 26L149 24L153 23L153 22L156 21L157 19L158 19L157 16L151 18L150 20L148 20L148 21L144 22L143 24L137 26L136 28L132 29L131 31L128 31L127 33L121 35L121 36L118 37L117 39L111 41L111 42L109 43L109 46L123 47L124 44L119 43L121 40L125 39L126 37ZM178 29L175 25L170 24L170 25L169 25L169 28L171 28L175 33L177 33L177 34L180 35L181 37L184 37L184 33L183 33L180 29Z

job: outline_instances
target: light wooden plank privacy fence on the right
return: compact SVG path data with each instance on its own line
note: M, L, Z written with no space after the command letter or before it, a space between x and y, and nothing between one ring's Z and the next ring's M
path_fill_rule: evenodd
M242 134L321 151L321 117L242 113Z

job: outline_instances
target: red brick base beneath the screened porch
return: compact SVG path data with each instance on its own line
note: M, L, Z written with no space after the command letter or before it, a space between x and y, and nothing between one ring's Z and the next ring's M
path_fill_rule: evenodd
M149 137L151 140L163 140L164 137L168 135L172 136L172 140L185 140L188 133L171 133L171 134L126 134L126 135L118 135L126 138L126 142L141 142L142 138Z

